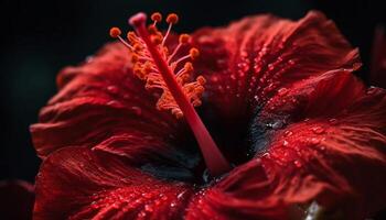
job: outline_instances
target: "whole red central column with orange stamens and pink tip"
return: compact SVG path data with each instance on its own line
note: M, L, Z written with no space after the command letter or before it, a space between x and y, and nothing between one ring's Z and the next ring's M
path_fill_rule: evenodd
M179 44L169 52L165 46L173 24L179 16L171 13L167 18L169 28L163 35L157 29L162 15L153 13L153 23L146 28L147 15L137 13L129 19L136 32L128 32L124 40L118 28L110 29L110 35L117 37L132 52L133 73L146 81L147 89L161 89L162 96L157 102L157 109L170 110L176 118L184 117L199 143L205 164L211 175L218 176L230 169L229 163L223 156L211 134L195 111L194 107L201 105L201 96L204 91L205 78L199 76L195 81L190 81L193 74L193 65L190 59L199 56L197 48L191 48L187 55L178 57L183 45L190 41L187 34L181 34Z

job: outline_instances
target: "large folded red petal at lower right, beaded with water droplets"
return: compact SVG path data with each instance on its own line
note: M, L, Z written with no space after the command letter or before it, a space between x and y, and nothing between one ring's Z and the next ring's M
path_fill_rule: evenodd
M289 219L312 201L371 217L386 206L385 116L386 90L365 89L350 70L298 82L256 118L255 129L270 125L255 158L194 198L187 219Z

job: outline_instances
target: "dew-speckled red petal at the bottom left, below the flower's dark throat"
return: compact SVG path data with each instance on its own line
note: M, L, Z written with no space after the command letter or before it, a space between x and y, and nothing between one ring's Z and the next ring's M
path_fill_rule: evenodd
M41 167L34 219L175 219L191 191L111 154L65 147Z

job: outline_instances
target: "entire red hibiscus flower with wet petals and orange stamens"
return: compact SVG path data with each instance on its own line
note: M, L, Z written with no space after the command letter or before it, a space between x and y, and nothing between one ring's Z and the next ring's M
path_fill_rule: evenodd
M130 23L128 42L111 29L124 44L58 75L31 127L35 219L363 219L386 206L386 91L353 76L358 51L323 14L180 37Z

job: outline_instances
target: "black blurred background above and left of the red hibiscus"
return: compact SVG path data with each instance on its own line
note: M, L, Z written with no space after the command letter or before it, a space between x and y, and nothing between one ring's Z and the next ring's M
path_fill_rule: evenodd
M191 32L262 12L299 19L310 9L323 11L360 47L365 67L358 76L366 81L374 29L385 23L383 0L2 0L0 179L34 180L40 160L29 125L36 122L39 109L55 94L56 73L110 41L109 28L126 28L130 14L178 12L182 20L175 30Z

